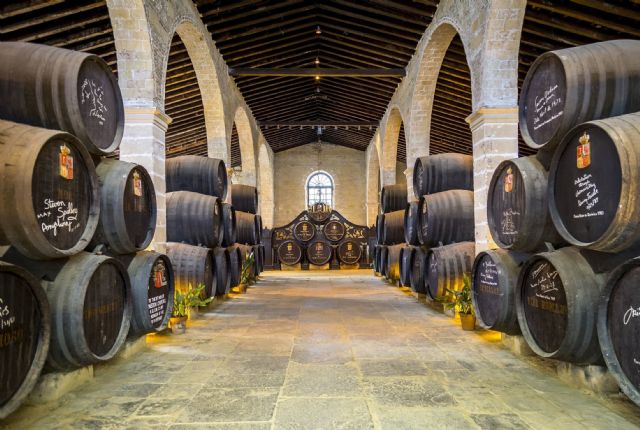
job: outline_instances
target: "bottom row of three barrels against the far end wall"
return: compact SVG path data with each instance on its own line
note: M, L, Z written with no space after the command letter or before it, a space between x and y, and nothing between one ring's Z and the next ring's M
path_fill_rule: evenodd
M354 265L358 264L362 254L360 243L350 239L336 245L325 239L314 240L303 245L294 240L287 240L277 249L279 261L287 266L295 266L302 261L323 266L334 256L343 264Z

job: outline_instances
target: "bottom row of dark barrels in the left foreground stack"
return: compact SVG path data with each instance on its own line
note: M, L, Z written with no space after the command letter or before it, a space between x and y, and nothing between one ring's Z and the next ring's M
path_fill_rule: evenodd
M53 261L0 250L0 418L26 398L40 371L107 361L127 336L163 330L174 271L163 254L81 252Z

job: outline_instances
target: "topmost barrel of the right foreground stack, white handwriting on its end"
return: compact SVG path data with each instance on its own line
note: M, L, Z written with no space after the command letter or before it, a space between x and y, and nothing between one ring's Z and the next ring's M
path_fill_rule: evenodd
M538 57L520 94L525 143L552 151L581 122L640 111L638 58L638 40L593 43Z

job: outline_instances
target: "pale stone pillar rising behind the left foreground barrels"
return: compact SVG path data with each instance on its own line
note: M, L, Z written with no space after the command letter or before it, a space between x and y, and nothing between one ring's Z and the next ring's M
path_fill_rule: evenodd
M165 133L171 118L156 107L126 107L120 159L144 166L156 190L158 217L150 249L164 252L167 242Z

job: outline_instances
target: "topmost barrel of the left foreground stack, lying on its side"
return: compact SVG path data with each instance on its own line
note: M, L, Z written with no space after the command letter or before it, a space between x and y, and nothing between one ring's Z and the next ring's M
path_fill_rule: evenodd
M64 130L96 155L120 145L120 87L100 57L22 42L0 44L0 118Z

